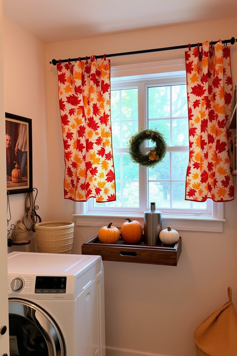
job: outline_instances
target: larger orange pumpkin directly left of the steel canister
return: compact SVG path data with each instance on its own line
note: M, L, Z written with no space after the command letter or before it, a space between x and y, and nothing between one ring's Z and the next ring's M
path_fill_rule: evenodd
M139 221L126 218L121 226L122 239L128 244L136 244L142 238L142 226Z

